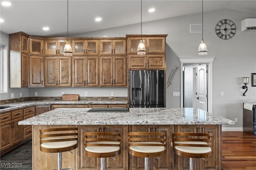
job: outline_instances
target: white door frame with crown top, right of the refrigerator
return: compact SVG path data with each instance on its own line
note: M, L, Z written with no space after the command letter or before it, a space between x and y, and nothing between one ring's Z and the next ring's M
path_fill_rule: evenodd
M215 57L178 57L180 60L180 68L183 68L184 63L208 64L208 112L212 113L212 67ZM183 107L183 69L180 69L180 107Z

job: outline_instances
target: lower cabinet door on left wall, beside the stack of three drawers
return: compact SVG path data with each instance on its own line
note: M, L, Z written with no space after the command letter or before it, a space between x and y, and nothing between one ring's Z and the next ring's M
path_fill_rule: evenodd
M12 120L12 144L22 141L23 126L18 125L19 121L22 121L22 117Z

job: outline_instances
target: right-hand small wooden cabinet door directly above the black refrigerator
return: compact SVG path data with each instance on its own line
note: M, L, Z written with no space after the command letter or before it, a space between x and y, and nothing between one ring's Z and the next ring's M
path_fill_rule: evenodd
M159 69L165 68L165 56L164 55L147 55L148 68Z

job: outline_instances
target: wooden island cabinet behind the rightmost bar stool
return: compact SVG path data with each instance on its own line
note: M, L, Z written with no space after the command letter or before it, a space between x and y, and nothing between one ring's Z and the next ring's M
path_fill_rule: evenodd
M190 133L213 133L214 143L213 152L210 157L205 159L195 159L195 169L200 170L219 170L221 167L221 128L219 125L176 125L176 132L190 132ZM189 170L189 158L177 156L175 162L175 169Z

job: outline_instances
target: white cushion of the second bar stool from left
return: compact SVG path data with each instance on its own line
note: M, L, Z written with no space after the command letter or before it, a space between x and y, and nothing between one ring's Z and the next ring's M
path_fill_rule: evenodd
M120 142L112 142L112 141L99 141L99 142L88 142L88 144L120 144ZM88 152L93 152L93 153L108 153L108 152L116 152L118 151L120 148L119 147L101 147L101 146L88 146L85 147L85 150Z

